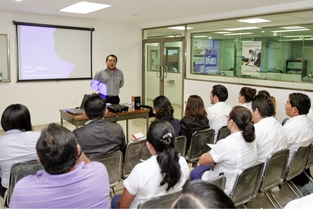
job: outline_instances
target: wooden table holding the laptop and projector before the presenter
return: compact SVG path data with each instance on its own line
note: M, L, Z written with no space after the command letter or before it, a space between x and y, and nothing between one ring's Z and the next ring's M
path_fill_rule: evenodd
M141 108L140 110L132 110L132 107L128 109L128 112L122 112L119 114L108 112L108 114L104 117L106 121L117 122L121 120L126 120L126 139L128 141L128 120L135 118L146 118L146 133L148 131L149 126L149 109ZM72 115L66 111L66 109L60 110L61 115L61 125L63 126L63 120L73 124L78 128L79 126L84 126L85 123L89 120L88 117L84 117L83 115Z

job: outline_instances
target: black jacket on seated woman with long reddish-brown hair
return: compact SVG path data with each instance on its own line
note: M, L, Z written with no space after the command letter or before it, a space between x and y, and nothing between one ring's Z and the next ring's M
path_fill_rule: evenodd
M210 128L209 120L207 117L205 118L204 125L201 125L200 121L198 120L193 121L190 117L183 117L179 123L180 123L180 136L187 137L186 150L189 150L191 137L193 133L195 133L196 131L201 131Z

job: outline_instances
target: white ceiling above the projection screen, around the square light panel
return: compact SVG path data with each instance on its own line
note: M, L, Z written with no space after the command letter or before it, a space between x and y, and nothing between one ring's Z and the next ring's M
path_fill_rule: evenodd
M89 14L59 12L81 0L0 0L0 10L45 14L116 23L145 24L191 18L207 14L299 2L299 0L84 0L110 4L112 7ZM133 15L137 14L137 15Z

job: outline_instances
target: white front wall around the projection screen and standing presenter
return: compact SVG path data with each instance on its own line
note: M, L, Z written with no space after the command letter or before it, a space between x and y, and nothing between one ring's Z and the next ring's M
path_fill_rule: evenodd
M13 21L94 27L92 73L105 67L107 55L115 54L116 66L123 70L125 78L119 94L121 103L131 103L132 95L141 95L142 42L141 29L137 25L1 11L0 32L10 35L11 82L0 83L0 115L8 105L21 103L28 107L33 125L60 122L59 109L80 106L84 93L93 92L90 80L17 83L17 41Z

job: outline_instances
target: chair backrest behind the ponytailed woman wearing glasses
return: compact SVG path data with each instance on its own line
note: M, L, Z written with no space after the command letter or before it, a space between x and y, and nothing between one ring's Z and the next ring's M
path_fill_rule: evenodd
M230 194L235 206L244 204L257 195L263 166L264 163L257 163L238 172L236 183Z

